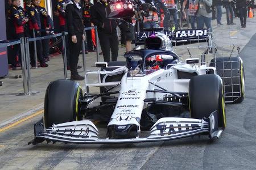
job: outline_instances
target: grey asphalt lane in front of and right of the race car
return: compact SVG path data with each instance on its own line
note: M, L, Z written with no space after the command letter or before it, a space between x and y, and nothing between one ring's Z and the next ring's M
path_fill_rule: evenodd
M247 27L249 29L249 24ZM254 27L255 28L255 27ZM250 39L246 32L242 35ZM242 41L242 40L241 40ZM243 48L246 97L227 104L227 128L220 140L207 137L122 145L69 145L33 138L31 118L0 133L1 169L255 169L256 168L256 35Z

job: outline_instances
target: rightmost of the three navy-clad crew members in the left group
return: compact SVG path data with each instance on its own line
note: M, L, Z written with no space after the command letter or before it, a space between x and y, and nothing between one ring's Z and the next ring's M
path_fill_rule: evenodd
M40 22L41 24L41 35L48 36L52 31L47 31L53 28L53 22L51 16L49 16L46 12L46 8L38 6L38 10L40 12ZM49 39L42 40L42 48L43 48L43 58L44 61L49 61Z

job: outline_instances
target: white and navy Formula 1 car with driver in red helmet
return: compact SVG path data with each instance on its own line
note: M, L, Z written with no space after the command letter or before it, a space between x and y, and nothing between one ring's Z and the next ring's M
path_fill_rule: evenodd
M35 139L28 144L152 142L199 134L219 138L226 128L228 94L237 103L244 97L242 59L225 63L230 59L214 58L209 66L200 65L199 58L181 62L172 50L174 41L196 36L211 43L207 30L179 31L181 40L175 33L156 34L156 29L147 29L152 34L144 39L144 49L125 53L125 62L96 63L99 70L86 73L84 95L77 82L51 82L44 117L34 125ZM231 80L223 80L220 70L230 67L236 67L225 73ZM91 87L100 87L100 94L90 94ZM98 130L93 121L105 122L104 128Z

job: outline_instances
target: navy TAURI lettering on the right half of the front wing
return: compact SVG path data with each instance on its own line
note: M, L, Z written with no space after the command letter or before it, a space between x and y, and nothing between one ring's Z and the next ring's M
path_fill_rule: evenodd
M156 129L157 130L160 130L160 135L163 136L163 135L170 135L170 134L177 134L177 133L183 133L185 131L189 131L189 130L192 130L192 129L195 129L195 128L199 128L199 125L197 124L191 124L190 125L191 127L189 127L188 124L185 124L185 130L181 130L181 124L178 124L177 127L174 125L170 125L168 128L167 128L167 125L156 125ZM191 128L191 129L189 129ZM168 131L166 131L166 129L169 129ZM177 130L175 130L177 129Z

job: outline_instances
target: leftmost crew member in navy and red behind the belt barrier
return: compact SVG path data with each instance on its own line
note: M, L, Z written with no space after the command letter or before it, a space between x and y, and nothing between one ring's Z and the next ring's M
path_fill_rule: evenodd
M20 0L12 0L12 4L10 6L9 18L11 20L10 27L14 28L14 32L12 32L11 37L13 40L19 40L24 37L24 25L28 22L27 18L24 18L23 8L20 7ZM11 53L11 65L13 70L16 69L16 56L18 54L18 61L21 63L21 52L20 45L13 46L13 52Z

